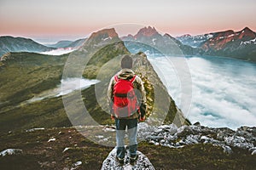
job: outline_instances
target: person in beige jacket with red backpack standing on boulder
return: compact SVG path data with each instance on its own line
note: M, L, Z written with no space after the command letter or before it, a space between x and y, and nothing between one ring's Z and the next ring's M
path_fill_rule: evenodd
M145 120L146 92L143 81L132 68L132 58L125 55L121 70L111 78L108 86L108 106L116 126L117 160L124 163L125 128L128 129L130 162L137 161L137 123Z

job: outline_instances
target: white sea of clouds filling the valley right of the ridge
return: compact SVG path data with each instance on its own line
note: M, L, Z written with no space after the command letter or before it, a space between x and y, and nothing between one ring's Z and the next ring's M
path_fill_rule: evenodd
M168 57L149 57L181 110L180 78ZM188 57L192 79L189 121L209 127L256 126L256 64L218 57Z

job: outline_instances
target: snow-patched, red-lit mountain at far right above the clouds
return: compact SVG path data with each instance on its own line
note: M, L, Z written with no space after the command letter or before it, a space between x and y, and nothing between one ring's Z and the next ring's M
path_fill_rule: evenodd
M256 61L256 33L245 27L241 31L219 31L209 34L176 37L193 48L200 48L203 54L227 56Z

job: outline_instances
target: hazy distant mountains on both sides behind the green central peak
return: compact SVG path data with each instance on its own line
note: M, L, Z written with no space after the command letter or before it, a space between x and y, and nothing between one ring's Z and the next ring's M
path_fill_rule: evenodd
M112 35L115 37L117 35ZM105 35L105 38L106 37ZM111 38L111 37L110 37ZM104 40L104 35L100 41ZM241 31L219 31L198 36L185 34L172 37L161 35L154 27L140 29L136 35L121 37L131 53L139 51L146 54L171 55L212 55L256 61L256 33L245 27ZM44 52L56 48L79 48L86 38L72 41L60 41L51 45L42 45L23 37L0 37L0 56L8 52ZM93 42L94 43L94 42Z

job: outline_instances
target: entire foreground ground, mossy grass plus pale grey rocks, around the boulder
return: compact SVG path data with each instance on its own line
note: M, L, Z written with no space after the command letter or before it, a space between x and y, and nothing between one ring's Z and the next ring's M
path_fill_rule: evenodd
M255 127L236 131L200 125L178 128L173 124L150 127L140 123L139 127L139 139L145 141L139 143L138 150L155 169L256 167ZM106 130L103 126L94 128ZM104 133L100 138L109 139ZM75 127L1 133L0 139L0 169L101 169L113 150L85 138Z

